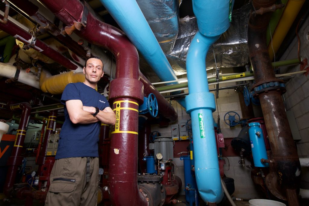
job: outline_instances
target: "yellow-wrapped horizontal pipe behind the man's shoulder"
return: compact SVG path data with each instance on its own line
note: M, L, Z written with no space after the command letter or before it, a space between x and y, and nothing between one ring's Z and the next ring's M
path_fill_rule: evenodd
M83 72L74 73L73 71L46 77L42 71L40 77L40 88L43 92L51 94L61 94L69 83L84 82L85 74Z

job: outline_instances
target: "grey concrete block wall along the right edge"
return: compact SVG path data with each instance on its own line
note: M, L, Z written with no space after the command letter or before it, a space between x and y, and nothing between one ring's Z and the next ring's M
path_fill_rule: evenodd
M298 31L300 38L299 55L309 60L309 19L303 23ZM293 59L298 57L298 39L294 38L289 48L280 60ZM309 65L305 65L307 68ZM281 73L300 71L300 65L286 66L280 68ZM297 150L300 158L309 157L309 75L296 74L286 83L286 110L293 111L298 126L301 140L297 142ZM309 189L309 169L302 168L301 185L307 185Z

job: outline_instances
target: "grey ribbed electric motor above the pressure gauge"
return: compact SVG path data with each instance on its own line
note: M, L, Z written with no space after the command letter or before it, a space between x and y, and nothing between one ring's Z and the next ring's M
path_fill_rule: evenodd
M154 152L161 153L162 161L173 160L173 139L171 137L159 136L154 141Z

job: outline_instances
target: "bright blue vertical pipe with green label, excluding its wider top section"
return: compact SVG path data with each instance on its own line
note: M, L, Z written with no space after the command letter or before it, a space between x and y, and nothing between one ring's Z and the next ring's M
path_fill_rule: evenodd
M191 113L197 188L205 202L216 203L222 200L223 190L212 116L216 104L208 88L205 58L219 37L200 32L194 36L186 60L189 95L185 98L187 113Z

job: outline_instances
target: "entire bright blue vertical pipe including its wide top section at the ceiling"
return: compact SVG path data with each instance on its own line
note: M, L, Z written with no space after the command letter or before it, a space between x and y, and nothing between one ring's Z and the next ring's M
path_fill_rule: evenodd
M214 94L209 92L206 55L212 44L230 26L229 0L194 0L193 12L199 31L194 36L186 59L189 95L185 98L191 116L195 176L201 198L209 204L221 202L219 162L212 112L216 110ZM234 1L233 1L234 2ZM230 9L230 11L229 11Z

